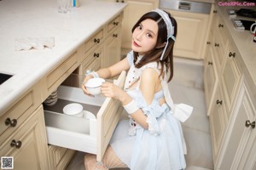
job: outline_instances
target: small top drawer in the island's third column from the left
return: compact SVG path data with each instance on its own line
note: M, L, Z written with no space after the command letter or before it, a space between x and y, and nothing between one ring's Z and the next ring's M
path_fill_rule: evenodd
M97 33L85 42L85 53L88 52L91 48L96 48L103 42L103 29L97 31Z

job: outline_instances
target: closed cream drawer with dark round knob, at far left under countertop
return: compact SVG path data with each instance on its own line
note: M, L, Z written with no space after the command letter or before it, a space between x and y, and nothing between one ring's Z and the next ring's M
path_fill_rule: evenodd
M0 144L14 133L22 122L41 104L40 87L35 85L0 117Z

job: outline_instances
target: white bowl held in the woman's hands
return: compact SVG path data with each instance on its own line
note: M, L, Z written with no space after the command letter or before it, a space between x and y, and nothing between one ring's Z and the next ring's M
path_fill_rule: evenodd
M91 78L84 86L92 95L101 94L102 82L105 82L103 78Z

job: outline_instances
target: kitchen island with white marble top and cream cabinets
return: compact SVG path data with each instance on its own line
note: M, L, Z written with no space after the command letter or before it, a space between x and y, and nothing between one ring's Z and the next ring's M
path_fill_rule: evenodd
M80 0L79 8L70 8L67 14L61 14L57 1L0 2L0 72L12 75L0 85L0 156L13 156L15 169L64 169L67 166L75 150L48 144L42 104L73 71L84 74L86 69L96 70L119 60L125 5ZM26 38L38 42L54 40L54 46L19 50L17 41ZM117 83L123 81L124 77ZM98 114L101 119L94 126L107 132L102 131L102 137L99 133L84 134L93 141L92 152L97 153L98 160L119 120L114 117L112 124L103 124L105 116L113 118L108 112L122 111L116 101L104 101L108 109L101 108Z

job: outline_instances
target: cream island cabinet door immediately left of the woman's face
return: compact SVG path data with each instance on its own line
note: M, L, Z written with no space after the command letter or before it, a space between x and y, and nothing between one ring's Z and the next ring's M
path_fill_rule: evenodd
M104 67L111 66L120 60L121 36L120 27L109 34L105 41L105 57L103 58Z

